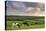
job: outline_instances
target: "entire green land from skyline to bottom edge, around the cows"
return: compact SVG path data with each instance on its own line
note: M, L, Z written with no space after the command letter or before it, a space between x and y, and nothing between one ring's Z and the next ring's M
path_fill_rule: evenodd
M45 21L44 16L42 17L35 17L35 16L8 16L6 20L6 30L21 30L21 29L39 29L45 27ZM13 19L15 18L15 19ZM16 19L17 18L17 19ZM26 18L26 19L24 19ZM12 23L20 23L27 22L29 26L23 26L20 27L13 27Z

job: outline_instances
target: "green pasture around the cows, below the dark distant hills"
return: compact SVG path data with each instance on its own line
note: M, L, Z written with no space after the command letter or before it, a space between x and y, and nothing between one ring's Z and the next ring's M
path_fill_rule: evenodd
M19 17L21 18L21 17ZM38 17L39 18L39 17ZM21 29L39 29L39 28L44 28L45 24L44 24L44 18L34 18L31 20L23 20L23 18L21 18L21 20L7 20L6 21L6 30L21 30ZM13 27L12 23L19 23L21 24L20 27ZM27 22L29 24L29 26L24 26L22 25L23 22Z

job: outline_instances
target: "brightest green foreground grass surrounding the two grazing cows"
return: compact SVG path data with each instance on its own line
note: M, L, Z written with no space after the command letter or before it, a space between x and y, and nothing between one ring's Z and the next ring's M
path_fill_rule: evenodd
M34 25L30 25L30 26L20 26L20 28L17 27L12 27L12 23L14 22L18 22L20 24L22 24L25 21L6 21L6 30L21 30L21 29L39 29L39 28L44 28L45 25L44 24L34 24L34 22L32 23L32 21L27 21L30 24L34 24Z

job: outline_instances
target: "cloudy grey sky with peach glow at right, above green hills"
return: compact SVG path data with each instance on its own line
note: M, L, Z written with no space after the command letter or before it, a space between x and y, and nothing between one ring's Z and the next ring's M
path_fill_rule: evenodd
M44 3L8 1L6 3L7 15L44 16Z

